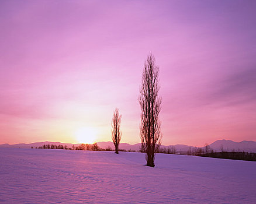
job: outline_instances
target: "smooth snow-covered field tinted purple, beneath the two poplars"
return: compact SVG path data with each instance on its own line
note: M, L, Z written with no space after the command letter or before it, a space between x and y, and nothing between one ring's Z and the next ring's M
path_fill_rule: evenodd
M256 203L256 162L0 149L0 203Z

